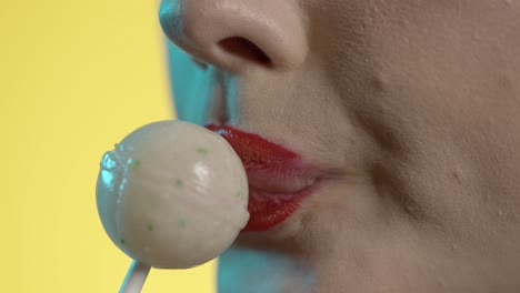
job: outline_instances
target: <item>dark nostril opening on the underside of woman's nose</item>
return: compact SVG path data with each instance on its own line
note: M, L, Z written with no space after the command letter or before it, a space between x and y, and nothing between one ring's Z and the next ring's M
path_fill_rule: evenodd
M271 59L256 46L242 37L231 37L223 39L219 42L219 46L227 52L243 58L256 63L270 67Z

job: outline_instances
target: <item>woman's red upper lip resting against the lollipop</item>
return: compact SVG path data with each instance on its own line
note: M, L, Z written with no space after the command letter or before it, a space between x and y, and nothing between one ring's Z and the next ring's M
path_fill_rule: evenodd
M230 125L207 125L219 133L239 155L250 188L269 193L294 193L314 183L320 171L296 152L258 134Z

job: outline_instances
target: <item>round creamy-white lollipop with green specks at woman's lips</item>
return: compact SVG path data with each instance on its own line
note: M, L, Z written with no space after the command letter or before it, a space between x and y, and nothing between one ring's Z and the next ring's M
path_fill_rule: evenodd
M217 257L249 219L240 158L220 135L181 121L144 125L107 152L97 202L110 239L143 267L142 282L150 266Z

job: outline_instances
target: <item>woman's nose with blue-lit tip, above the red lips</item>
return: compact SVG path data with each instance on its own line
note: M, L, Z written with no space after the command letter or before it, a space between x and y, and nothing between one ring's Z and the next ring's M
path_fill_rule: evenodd
M308 54L296 0L163 0L159 17L173 43L224 70L291 70Z

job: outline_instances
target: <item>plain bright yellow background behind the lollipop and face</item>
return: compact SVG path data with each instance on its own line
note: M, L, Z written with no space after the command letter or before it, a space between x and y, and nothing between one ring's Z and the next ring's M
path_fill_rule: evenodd
M154 0L2 1L0 292L117 292L130 260L98 219L106 150L173 118ZM214 292L214 263L143 292Z

